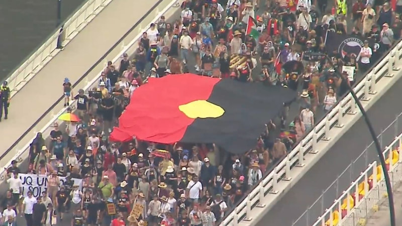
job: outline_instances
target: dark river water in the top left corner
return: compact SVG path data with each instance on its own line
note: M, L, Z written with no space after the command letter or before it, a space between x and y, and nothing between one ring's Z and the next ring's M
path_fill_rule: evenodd
M86 0L61 0L62 21ZM57 0L3 0L0 3L0 81L56 29Z

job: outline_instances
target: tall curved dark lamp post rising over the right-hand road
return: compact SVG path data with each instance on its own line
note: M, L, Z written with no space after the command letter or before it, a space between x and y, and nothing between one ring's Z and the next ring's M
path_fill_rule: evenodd
M332 62L332 61L330 61L330 62ZM342 79L347 79L347 78L342 77ZM372 77L371 79L374 79L374 78ZM377 136L375 135L374 128L370 122L370 119L368 118L367 113L364 110L364 107L361 104L359 98L357 97L355 91L353 90L353 88L350 86L349 83L347 83L347 87L348 87L350 93L352 94L352 97L355 100L357 106L359 107L361 114L363 115L364 121L366 122L366 125L368 127L368 130L370 131L371 138L374 141L375 149L377 151L378 158L380 159L382 171L384 174L386 191L388 193L389 216L390 216L390 222L391 222L390 225L395 226L395 208L393 205L393 193L392 193L391 181L389 179L388 170L386 169L385 158L384 158L384 155L382 154L380 142L378 141ZM392 160L390 160L390 161L392 161Z

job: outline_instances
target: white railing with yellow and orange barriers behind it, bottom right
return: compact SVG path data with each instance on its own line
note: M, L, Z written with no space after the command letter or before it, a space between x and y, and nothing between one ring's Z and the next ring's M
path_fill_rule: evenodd
M382 153L386 159L392 188L402 181L402 134L396 137ZM313 226L355 226L364 225L378 210L387 197L384 174L381 165L374 161L352 182L331 207L318 218Z

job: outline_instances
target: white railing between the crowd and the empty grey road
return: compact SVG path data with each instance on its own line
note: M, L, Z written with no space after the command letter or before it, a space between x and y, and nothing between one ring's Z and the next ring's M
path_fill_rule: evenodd
M353 88L356 95L361 100L369 100L369 94L375 94L376 83L383 77L392 77L394 71L398 68L395 61L400 61L402 54L402 41L396 46L371 70L366 76ZM304 159L306 155L316 154L319 152L317 143L319 141L328 141L331 139L332 127L343 127L344 116L346 114L356 114L356 102L349 93L340 102L332 108L327 116L320 121L314 129L287 154L282 160L261 182L256 186L247 197L240 202L236 208L221 222L221 226L236 226L243 216L251 219L251 211L258 207L258 203L262 203L264 197L269 194L278 193L278 182L280 180L291 180L291 170L294 167L305 166Z

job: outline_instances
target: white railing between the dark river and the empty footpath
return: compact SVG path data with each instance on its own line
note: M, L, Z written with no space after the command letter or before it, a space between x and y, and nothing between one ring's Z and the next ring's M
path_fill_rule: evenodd
M6 79L11 89L11 97L15 95L30 79L32 79L60 49L57 42L60 36L62 46L67 45L79 31L81 31L97 14L113 0L87 0L61 27L34 52L21 63Z

